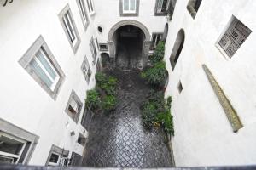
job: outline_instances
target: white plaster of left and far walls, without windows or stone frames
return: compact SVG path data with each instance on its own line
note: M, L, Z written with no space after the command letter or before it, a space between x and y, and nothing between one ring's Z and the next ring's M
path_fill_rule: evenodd
M76 54L70 47L58 17L67 3L81 38ZM39 136L29 164L44 165L52 144L69 150L70 154L75 151L82 155L83 148L76 141L79 133L88 135L80 125L84 107L78 124L71 120L65 108L72 90L84 104L86 90L95 85L96 65L92 65L90 38L95 35L98 42L107 42L110 28L118 21L128 19L141 21L150 33L164 31L166 17L154 17L154 5L154 1L141 0L139 16L120 17L118 0L95 0L96 14L89 14L90 25L86 32L75 0L17 0L7 3L5 7L0 5L0 117ZM97 33L95 26L102 26L102 34ZM44 37L66 75L56 100L18 63L39 35ZM80 69L85 55L93 71L89 85ZM70 136L71 131L75 132L75 136Z

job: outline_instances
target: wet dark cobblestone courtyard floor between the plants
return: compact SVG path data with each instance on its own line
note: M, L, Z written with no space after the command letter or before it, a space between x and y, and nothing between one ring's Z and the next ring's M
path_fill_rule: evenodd
M110 71L119 79L115 111L93 116L89 126L85 167L172 167L166 135L159 129L143 129L140 105L148 86L138 71Z

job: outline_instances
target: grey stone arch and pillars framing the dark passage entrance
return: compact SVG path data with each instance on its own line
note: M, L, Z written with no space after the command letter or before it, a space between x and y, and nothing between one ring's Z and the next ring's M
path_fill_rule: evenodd
M143 42L143 59L141 63L141 67L143 68L143 66L146 65L148 62L148 51L150 48L151 41L150 41L150 34L148 31L148 28L137 20L122 20L116 23L114 26L112 26L112 28L108 32L108 48L109 48L110 59L113 62L114 59L116 58L116 45L114 44L113 34L115 33L115 31L119 29L119 27L128 26L128 25L137 26L143 31L145 35L145 39Z

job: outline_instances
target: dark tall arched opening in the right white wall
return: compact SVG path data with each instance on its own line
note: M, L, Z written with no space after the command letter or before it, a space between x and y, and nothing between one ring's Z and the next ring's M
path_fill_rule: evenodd
M174 46L172 48L172 54L170 57L172 71L174 70L175 65L177 63L177 59L183 50L184 40L185 40L185 32L183 29L181 29L180 31L177 32L177 37L176 37Z

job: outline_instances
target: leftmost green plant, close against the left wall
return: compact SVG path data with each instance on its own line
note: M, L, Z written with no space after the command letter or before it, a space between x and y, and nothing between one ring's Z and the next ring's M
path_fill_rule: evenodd
M85 104L90 108L91 111L101 109L101 99L98 92L95 89L87 91L87 98Z

